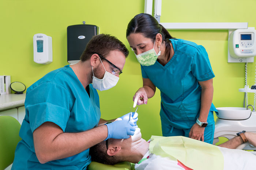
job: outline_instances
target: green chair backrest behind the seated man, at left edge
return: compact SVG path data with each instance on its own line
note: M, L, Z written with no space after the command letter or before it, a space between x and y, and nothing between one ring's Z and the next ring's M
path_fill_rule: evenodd
M0 116L0 170L7 168L14 160L19 137L20 123L11 116Z

